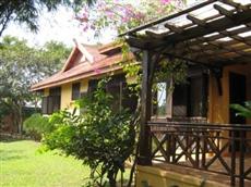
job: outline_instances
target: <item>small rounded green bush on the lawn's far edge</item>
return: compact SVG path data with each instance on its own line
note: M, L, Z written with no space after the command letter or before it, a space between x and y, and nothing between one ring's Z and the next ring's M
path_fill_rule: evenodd
M49 117L43 116L39 113L31 115L24 121L24 130L35 140L40 140L43 135L53 129L52 123L49 123Z

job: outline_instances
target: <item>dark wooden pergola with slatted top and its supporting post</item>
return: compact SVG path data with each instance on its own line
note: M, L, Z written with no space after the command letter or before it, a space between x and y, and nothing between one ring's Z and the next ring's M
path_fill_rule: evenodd
M163 59L181 59L210 68L222 92L226 65L251 63L251 2L207 0L181 12L133 28L125 36L132 50L143 53L140 164L151 164L152 82Z

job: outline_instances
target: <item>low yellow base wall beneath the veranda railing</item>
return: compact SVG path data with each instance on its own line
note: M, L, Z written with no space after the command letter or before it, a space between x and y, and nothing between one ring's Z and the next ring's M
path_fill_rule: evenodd
M226 187L226 185L205 180L203 176L191 176L162 170L156 166L136 166L136 187Z

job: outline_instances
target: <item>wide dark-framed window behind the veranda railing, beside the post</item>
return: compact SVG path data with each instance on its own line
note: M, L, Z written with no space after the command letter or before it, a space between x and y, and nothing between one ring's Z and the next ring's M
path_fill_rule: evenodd
M153 115L156 117L205 117L207 111L207 75L191 75L186 84L175 85L169 91L171 82L157 84L153 94Z

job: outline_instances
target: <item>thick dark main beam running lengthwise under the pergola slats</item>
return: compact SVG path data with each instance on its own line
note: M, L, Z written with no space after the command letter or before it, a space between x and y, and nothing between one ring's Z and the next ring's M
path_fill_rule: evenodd
M145 38L142 38L142 42L145 42L144 46L147 46L147 48L157 48L160 46L166 46L168 48L172 47L174 43L177 42L182 42L182 41L188 41L190 39L196 39L200 37L205 38L205 35L210 35L212 33L218 32L222 35L224 34L224 36L229 36L229 35L234 35L234 32L227 32L226 29L235 27L237 25L241 25L241 24L249 24L251 23L251 10L247 10L247 11L242 11L239 12L238 14L234 14L231 18L228 18L226 16L205 23L199 18L195 18L191 15L189 15L188 17L194 22L194 24L198 24L199 26L196 27L191 27L188 29L184 29L182 32L182 34L178 34L178 33L174 33L170 35L165 36L165 34L156 34L154 32L146 32L146 36ZM152 39L151 41L151 37L150 36L156 36L159 38L155 38ZM146 39L146 41L144 41L144 39ZM240 37L236 36L234 39L238 39L241 40L242 42L244 42L243 39L241 39ZM134 41L135 43L135 41Z

